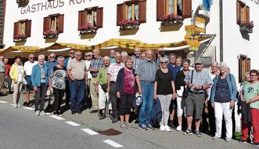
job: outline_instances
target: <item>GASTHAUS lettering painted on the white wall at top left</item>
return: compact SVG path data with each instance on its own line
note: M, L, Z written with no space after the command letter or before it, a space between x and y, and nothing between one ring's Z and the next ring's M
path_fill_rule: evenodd
M55 0L55 1L43 1L41 3L29 3L27 6L21 8L21 14L32 14L35 12L42 12L46 10L52 10L55 8L62 8L64 5L79 5L89 0Z

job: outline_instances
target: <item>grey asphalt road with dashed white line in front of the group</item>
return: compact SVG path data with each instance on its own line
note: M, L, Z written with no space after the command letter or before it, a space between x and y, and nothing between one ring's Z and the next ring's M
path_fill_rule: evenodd
M22 94L21 101L24 98ZM170 133L159 130L141 131L134 122L132 124L135 128L124 130L119 123L112 124L109 118L98 120L96 113L89 113L90 109L83 111L81 115L71 115L70 111L66 111L64 116L54 118L52 113L34 116L33 106L31 109L15 109L11 100L12 95L0 97L0 149L254 148L251 144L240 144L236 140L230 143L223 139L215 141L206 134L198 138L195 135L185 136L174 130ZM121 134L112 136L98 133L109 128L114 128Z

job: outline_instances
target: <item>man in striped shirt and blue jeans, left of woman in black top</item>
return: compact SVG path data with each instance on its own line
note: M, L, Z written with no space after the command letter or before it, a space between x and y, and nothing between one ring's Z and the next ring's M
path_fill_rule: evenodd
M146 51L146 59L139 63L135 71L139 94L142 94L143 103L139 109L139 128L142 130L154 129L151 124L151 111L154 99L154 79L156 63L152 61L153 51Z

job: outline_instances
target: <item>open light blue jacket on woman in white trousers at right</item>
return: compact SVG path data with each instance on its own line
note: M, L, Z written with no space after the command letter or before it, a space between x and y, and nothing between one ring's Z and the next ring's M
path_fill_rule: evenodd
M234 79L233 74L227 74L227 81L228 81L228 87L230 89L230 99L236 101L236 80ZM217 80L219 79L219 74L214 77L213 79L213 87L211 87L210 91L210 100L211 103L214 103L215 100L215 93L216 93L216 85L217 85Z

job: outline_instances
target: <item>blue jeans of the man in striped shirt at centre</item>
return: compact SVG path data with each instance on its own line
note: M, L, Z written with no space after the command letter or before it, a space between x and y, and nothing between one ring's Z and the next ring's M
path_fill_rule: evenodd
M141 83L141 88L143 103L139 109L139 126L150 124L154 99L154 83Z

